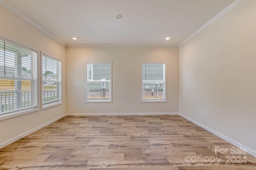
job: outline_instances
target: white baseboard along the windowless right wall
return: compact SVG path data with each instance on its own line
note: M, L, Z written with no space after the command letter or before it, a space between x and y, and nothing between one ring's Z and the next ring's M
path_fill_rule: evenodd
M214 131L214 130L211 129L210 127L207 127L207 126L205 126L205 125L203 125L203 124L201 124L201 123L195 121L194 119L191 119L190 117L188 117L188 116L182 114L182 113L179 113L179 115L182 116L182 117L184 117L185 119L187 119L187 120L189 120L189 121L195 123L196 125L198 125L198 126L204 128L205 130L207 130L207 131L213 133L214 135L216 135L216 136L218 136L218 137L224 139L225 141L231 143L232 145L235 145L235 146L238 147L238 148L240 148L240 147L245 148L245 149L247 150L247 153L249 153L249 154L251 154L251 155L253 155L253 156L256 157L256 151L255 151L255 150L252 150L252 149L250 149L250 148L248 148L248 147L246 147L246 146L244 146L244 145L242 145L242 144L240 144L240 143L234 141L233 139L230 139L229 137L226 137L225 135L222 135L221 133L219 133L219 132L217 132L217 131Z

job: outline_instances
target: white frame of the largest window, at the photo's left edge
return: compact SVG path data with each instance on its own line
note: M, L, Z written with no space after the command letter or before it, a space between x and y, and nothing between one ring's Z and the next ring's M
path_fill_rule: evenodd
M8 43L11 43L13 45L17 45L17 46L22 47L24 49L28 49L30 51L33 51L34 53L36 53L36 60L37 60L37 62L35 62L35 66L34 66L35 69L33 70L34 72L36 72L35 73L36 77L33 80L31 79L32 82L34 81L34 88L36 88L36 91L35 91L36 94L34 94L34 95L36 95L36 99L35 99L36 105L34 107L31 107L31 108L24 108L24 109L19 109L19 110L16 110L16 111L6 111L5 113L0 115L0 121L1 121L1 120L4 120L4 119L9 119L11 117L24 115L24 114L32 113L32 112L35 112L35 111L39 110L38 109L38 100L39 100L39 98L38 98L38 83L37 83L38 82L38 66L39 66L39 64L38 64L39 50L35 49L33 47L30 47L28 45L25 45L23 43L20 43L20 42L14 40L14 39L9 38L9 37L5 37L4 35L1 35L1 34L0 34L0 39L2 41L6 41ZM3 76L1 76L1 77L3 77ZM32 91L33 90L31 89L31 92Z

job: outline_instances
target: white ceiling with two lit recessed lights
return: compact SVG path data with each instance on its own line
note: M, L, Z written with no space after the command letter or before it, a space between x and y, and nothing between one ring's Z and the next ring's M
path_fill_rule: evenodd
M2 0L65 44L178 45L234 0ZM116 15L122 19L116 19ZM71 37L77 37L74 41ZM171 37L166 41L166 37Z

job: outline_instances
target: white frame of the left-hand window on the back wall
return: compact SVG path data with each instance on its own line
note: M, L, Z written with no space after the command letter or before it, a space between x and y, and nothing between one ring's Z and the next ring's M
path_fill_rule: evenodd
M88 72L87 72L87 65L88 65L88 63L89 64L100 64L100 63L110 63L110 83L109 83L109 100L100 100L100 99L96 99L96 100L93 100L93 99L88 99L88 89L87 89L87 87L88 87L88 81L89 81L89 76L88 76ZM85 72L86 72L86 78L85 78L85 80L86 80L86 96L85 96L85 101L86 102L88 102L88 103L110 103L110 102L112 102L112 61L87 61L86 62L86 66L85 66ZM104 82L105 82L106 80L104 80ZM98 82L101 82L100 80L98 80Z

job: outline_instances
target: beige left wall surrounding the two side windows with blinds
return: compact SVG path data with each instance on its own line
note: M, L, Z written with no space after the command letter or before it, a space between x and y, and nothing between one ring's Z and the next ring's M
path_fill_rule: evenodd
M63 104L0 121L0 144L66 113L66 47L0 5L0 35L62 60ZM40 55L38 56L40 59ZM41 84L40 77L38 83ZM38 89L40 95L40 89ZM39 96L40 98L40 96ZM39 100L41 102L41 100ZM40 108L40 103L38 104Z

